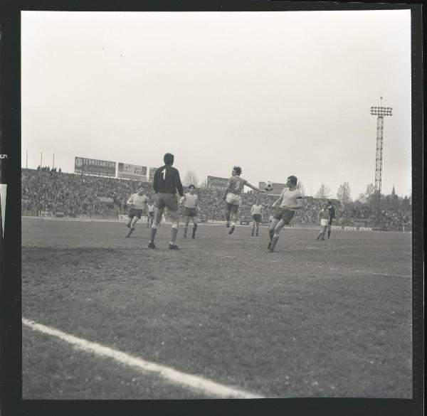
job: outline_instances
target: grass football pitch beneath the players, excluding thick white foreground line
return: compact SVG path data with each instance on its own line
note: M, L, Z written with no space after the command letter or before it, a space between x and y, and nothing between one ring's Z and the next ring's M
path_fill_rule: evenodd
M22 220L23 316L267 398L411 398L411 235ZM189 228L191 235L191 227ZM214 398L23 326L24 399Z

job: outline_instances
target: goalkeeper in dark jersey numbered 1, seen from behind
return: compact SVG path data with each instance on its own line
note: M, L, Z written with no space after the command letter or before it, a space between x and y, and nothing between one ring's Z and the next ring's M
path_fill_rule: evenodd
M162 220L164 208L167 207L172 219L169 249L179 250L179 247L175 242L179 225L178 198L176 198L176 190L180 196L184 196L184 189L182 188L178 169L172 167L174 164L174 155L170 153L165 154L163 161L164 166L157 169L153 178L153 190L157 194L157 209L154 213L154 223L151 228L151 238L148 242L148 247L156 248L154 245L154 237L156 236L157 229L160 226L160 220Z

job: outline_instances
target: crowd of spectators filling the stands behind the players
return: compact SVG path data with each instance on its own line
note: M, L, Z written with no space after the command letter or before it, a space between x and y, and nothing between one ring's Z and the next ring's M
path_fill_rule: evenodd
M22 210L61 213L65 217L85 215L117 215L127 213L126 201L138 186L142 186L146 195L154 201L154 191L149 182L139 182L103 176L65 174L60 170L39 168L22 169ZM184 187L184 191L186 188ZM225 203L223 190L199 188L196 190L201 220L225 220ZM255 201L264 206L263 221L268 223L274 208L271 205L278 196L260 194L256 191L243 193L239 209L240 220L251 221L251 207ZM332 203L337 208L334 219L336 225L375 224L374 210L366 204L354 202L342 206L339 201ZM305 197L303 208L298 210L292 225L317 226L317 215L326 201ZM387 230L411 230L412 216L410 210L383 210L382 223Z

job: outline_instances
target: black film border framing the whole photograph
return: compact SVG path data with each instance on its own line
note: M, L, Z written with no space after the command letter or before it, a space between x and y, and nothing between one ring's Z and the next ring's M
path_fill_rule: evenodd
M423 31L421 4L297 1L2 1L0 183L7 184L0 235L0 412L5 415L422 415L423 414ZM413 398L262 400L22 400L21 16L31 11L411 10ZM425 49L424 49L425 52Z

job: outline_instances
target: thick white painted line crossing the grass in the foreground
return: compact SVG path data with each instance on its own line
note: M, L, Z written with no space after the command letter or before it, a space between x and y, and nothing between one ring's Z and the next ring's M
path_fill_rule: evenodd
M76 336L66 334L63 331L59 331L58 329L53 329L49 326L37 324L36 322L29 321L25 318L22 319L22 323L33 329L33 331L40 331L43 332L43 334L56 336L57 338L60 338L63 341L66 341L72 344L73 346L79 348L80 350L95 353L97 356L113 358L115 361L125 364L126 366L139 368L140 370L154 373L160 378L164 378L165 380L169 380L173 383L185 386L187 388L198 390L199 392L205 393L206 395L215 395L219 398L263 398L263 396L260 395L255 395L253 393L248 393L243 390L228 387L227 385L215 383L214 381L208 380L207 378L202 378L187 373L181 373L181 371L174 370L174 368L160 366L159 364L142 360L142 358L130 356L127 353L122 353L121 351L102 346L99 343L87 341L83 338L77 338Z

